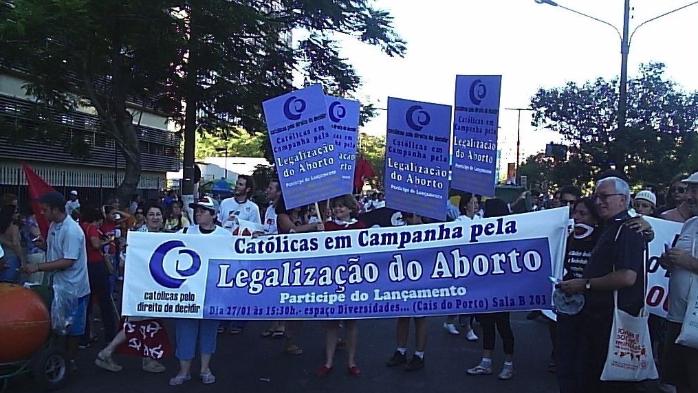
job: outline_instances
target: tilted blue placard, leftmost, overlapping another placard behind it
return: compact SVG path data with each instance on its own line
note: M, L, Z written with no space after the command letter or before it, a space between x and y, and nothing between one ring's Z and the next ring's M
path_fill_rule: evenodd
M287 208L342 194L339 155L316 84L262 102Z

